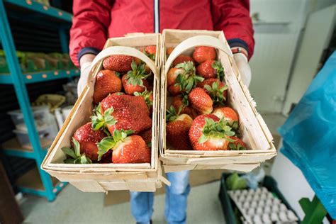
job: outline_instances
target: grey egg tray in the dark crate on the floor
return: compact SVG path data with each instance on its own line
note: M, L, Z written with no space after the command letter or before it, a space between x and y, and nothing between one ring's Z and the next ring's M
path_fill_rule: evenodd
M298 223L298 217L265 187L228 191L243 215L242 223Z

